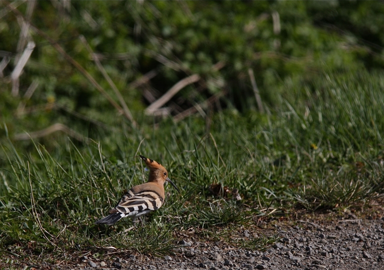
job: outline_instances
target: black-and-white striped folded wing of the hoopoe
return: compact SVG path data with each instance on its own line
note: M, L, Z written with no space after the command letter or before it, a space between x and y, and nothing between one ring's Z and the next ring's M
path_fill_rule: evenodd
M115 209L125 216L140 216L157 210L163 198L154 190L141 190L137 193L129 189L117 203Z

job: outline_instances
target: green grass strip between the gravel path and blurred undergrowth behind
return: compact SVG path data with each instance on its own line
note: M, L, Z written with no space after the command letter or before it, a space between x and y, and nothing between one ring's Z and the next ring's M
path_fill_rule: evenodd
M256 215L369 203L383 193L382 77L346 72L287 83L270 115L228 108L213 115L208 132L197 116L164 119L158 129L142 116L140 129L122 121L88 144L3 139L1 256L54 258L102 246L162 256L177 252L182 230L223 238L221 230L251 225ZM124 232L129 219L95 225L124 189L146 180L136 152L162 163L181 193L167 186L164 206L137 229ZM214 196L211 183L237 188L242 200ZM263 249L275 240L237 244Z

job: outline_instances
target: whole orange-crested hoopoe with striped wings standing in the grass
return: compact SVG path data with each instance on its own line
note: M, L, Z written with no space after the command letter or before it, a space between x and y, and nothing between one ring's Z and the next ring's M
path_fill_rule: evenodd
M123 217L132 217L136 224L136 217L157 210L164 202L164 183L169 182L178 192L180 190L168 178L168 172L157 161L139 155L149 168L149 178L146 183L135 185L124 193L116 206L109 211L109 215L94 222L95 224L112 225Z

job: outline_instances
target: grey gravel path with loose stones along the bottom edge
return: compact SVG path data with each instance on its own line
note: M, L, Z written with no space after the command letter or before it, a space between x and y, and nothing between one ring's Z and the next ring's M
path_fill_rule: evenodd
M257 233L278 233L281 239L264 252L230 247L220 242L202 243L181 239L180 252L164 258L111 257L102 261L76 258L70 265L52 269L384 269L384 230L382 219L333 221L294 220L266 223L273 229ZM281 225L280 223L284 223ZM288 222L289 223L289 222ZM251 232L241 232L252 237Z

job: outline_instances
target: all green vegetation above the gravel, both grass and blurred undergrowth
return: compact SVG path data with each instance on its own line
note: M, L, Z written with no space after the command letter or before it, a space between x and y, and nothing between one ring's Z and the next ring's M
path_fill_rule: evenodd
M175 252L182 230L222 239L255 216L343 211L383 193L380 2L39 1L30 19L39 30L29 31L36 46L18 94L10 79L19 57L16 16L29 3L15 11L0 4L0 56L10 57L0 77L4 254L115 246L164 255ZM135 124L83 75L122 106L87 43ZM155 75L140 82L148 72ZM165 103L167 115L144 112L193 74L199 79ZM195 113L176 121L188 108ZM56 132L33 133L57 123ZM166 204L137 229L124 232L129 220L93 224L145 180L138 153L162 163L181 193L166 187ZM212 194L212 183L238 189L242 199ZM274 240L230 244L264 248Z

